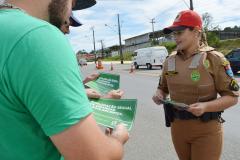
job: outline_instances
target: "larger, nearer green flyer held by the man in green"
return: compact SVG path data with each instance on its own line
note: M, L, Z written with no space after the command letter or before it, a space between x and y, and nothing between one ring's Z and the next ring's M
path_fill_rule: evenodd
M93 116L99 125L115 128L124 123L131 130L137 108L136 99L90 99Z

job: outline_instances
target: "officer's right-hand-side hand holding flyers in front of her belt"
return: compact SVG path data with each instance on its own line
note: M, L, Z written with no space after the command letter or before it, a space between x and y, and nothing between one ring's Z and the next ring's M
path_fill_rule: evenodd
M206 103L194 103L189 106L187 111L199 117L205 113L206 107Z

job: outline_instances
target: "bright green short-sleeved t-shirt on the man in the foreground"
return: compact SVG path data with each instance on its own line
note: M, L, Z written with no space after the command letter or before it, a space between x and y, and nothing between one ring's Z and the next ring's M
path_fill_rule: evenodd
M0 159L59 160L49 136L91 112L65 36L20 10L0 9Z

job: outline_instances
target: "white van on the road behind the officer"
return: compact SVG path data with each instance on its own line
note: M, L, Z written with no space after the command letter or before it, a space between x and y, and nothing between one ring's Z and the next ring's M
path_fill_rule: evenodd
M168 56L168 51L163 46L142 48L134 51L133 64L136 69L139 66L147 66L152 69L153 66L162 68L163 62Z

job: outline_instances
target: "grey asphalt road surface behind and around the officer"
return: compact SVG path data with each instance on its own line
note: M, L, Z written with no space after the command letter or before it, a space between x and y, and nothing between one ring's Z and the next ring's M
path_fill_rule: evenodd
M114 70L105 64L106 72L121 75L124 98L137 98L138 109L130 141L125 147L124 160L177 160L171 143L170 130L164 126L163 109L155 105L151 97L157 87L159 69L140 69L129 73L130 64L114 64ZM84 75L97 72L94 65L83 67ZM238 78L239 80L239 78ZM224 152L222 160L240 160L240 104L225 111ZM214 146L212 146L214 147Z

